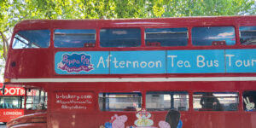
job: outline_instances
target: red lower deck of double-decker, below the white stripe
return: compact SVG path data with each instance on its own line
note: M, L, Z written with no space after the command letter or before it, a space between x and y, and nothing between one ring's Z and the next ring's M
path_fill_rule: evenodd
M54 88L48 84L51 101L45 116L48 127L59 128L253 128L255 84L104 82L55 83Z

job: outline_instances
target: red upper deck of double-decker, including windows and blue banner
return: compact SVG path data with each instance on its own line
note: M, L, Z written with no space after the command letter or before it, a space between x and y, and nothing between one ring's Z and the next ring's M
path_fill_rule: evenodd
M255 19L24 20L15 26L5 79L247 76L256 67Z

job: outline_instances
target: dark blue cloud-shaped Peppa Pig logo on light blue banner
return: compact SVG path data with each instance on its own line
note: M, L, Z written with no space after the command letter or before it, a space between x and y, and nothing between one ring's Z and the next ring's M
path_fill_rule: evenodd
M58 63L58 68L68 73L90 72L94 69L90 59L91 56L85 54L64 54L61 62Z

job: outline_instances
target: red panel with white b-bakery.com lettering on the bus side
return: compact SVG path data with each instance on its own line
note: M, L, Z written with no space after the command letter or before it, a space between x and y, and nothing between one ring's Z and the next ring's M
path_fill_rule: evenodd
M90 111L94 108L92 92L56 92L54 97L57 110Z

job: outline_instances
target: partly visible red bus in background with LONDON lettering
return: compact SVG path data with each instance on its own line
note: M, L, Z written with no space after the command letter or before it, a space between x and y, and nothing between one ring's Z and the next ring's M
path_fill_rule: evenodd
M3 83L0 84L0 88ZM8 122L24 114L24 96L25 90L20 87L5 88L5 95L0 92L0 122Z

